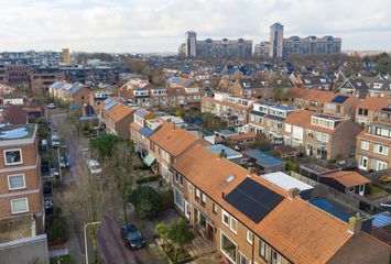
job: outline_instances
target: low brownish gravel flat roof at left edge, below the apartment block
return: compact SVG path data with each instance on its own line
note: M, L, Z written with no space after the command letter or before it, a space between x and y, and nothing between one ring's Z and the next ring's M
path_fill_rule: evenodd
M0 220L0 244L13 240L31 238L33 231L32 215L23 215Z

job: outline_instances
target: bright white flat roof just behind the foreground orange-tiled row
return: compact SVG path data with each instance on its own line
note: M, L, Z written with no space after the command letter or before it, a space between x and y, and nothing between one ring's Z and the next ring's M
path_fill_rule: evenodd
M290 190L292 188L297 188L300 191L303 190L308 190L313 189L311 185L307 185L287 174L284 174L282 172L276 172L276 173L270 173L270 174L263 174L260 175L261 178L268 180L269 183L272 183L273 185L276 185L284 190Z

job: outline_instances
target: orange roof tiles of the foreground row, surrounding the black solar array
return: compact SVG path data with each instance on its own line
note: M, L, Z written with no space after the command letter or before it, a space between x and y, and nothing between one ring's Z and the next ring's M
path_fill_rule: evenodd
M301 198L287 198L285 190L258 175L251 179L284 199L259 223L253 222L222 198L222 193L229 194L248 172L200 145L183 154L173 168L294 263L326 263L352 235L347 223ZM235 178L227 184L230 175Z

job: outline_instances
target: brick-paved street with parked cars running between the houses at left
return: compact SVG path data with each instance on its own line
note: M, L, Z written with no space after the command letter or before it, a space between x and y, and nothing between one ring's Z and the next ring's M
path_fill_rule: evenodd
M75 186L83 184L86 174L86 166L82 157L82 151L88 148L88 140L78 134L74 124L67 119L66 112L50 113L50 119L54 128L61 133L63 144L68 146L70 155L70 168L63 169L63 182L54 189L54 204L62 208L66 219L68 230L67 246L73 263L85 263L84 255L84 222L78 222L73 210L73 196ZM148 248L130 251L126 248L120 238L119 222L123 219L121 201L118 193L110 194L107 211L101 219L98 229L98 254L100 261L108 264L133 264L133 263L156 263L150 254ZM122 220L123 221L123 220ZM88 239L89 260L93 260L93 241Z

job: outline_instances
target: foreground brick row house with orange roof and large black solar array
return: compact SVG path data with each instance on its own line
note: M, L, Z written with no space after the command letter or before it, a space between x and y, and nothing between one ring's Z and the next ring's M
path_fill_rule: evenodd
M172 167L174 204L219 263L389 263L390 248L202 145ZM366 246L363 250L362 246Z

